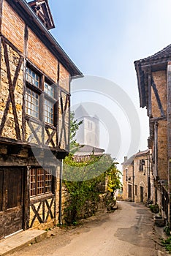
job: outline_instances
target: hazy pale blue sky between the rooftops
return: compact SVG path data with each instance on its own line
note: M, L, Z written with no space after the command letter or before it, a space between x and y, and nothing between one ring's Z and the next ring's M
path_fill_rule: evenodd
M140 108L134 61L170 45L171 1L49 0L49 4L56 23L50 32L85 75L72 81L72 108L82 103L90 115L99 111L100 147L118 162L145 150L148 118L146 109ZM109 116L107 121L104 115ZM117 145L116 136L121 138Z

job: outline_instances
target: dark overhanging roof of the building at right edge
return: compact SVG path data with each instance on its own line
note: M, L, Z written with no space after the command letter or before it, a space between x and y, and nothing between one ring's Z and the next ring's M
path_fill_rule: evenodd
M137 72L137 83L140 96L140 107L148 107L148 75L149 72L167 69L167 62L171 61L171 45L168 45L152 56L134 61Z

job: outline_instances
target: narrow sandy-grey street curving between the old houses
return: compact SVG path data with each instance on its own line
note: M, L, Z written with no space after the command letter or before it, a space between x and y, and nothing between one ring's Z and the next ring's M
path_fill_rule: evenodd
M50 231L51 232L51 231ZM27 246L13 256L155 256L156 235L151 211L144 205L118 202L113 213L97 214L70 230Z

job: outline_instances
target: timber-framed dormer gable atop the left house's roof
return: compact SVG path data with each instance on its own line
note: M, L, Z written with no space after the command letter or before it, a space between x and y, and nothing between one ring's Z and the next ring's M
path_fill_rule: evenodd
M28 3L32 10L37 14L39 19L49 29L55 28L53 17L47 0L35 0Z

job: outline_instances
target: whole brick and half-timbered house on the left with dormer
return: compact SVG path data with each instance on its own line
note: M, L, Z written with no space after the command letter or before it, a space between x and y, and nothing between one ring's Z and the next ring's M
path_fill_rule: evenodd
M47 0L0 1L0 238L61 219L69 85L82 73L52 28Z

